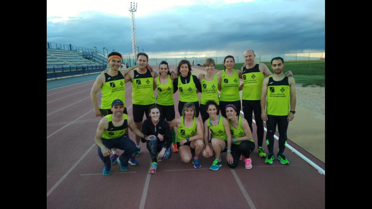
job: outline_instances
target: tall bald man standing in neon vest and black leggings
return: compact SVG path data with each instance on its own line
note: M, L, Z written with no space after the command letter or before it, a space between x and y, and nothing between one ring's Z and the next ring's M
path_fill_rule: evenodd
M248 121L249 128L253 132L253 113L255 115L255 121L257 126L257 153L260 158L266 157L266 153L263 144L263 120L261 119L261 93L262 93L262 83L264 76L268 77L273 75L269 68L267 68L264 63L256 63L254 58L256 54L251 49L248 49L243 54L244 60L246 61L241 68L243 83L239 90L242 92L242 106L244 118ZM292 76L292 72L286 72L286 75Z

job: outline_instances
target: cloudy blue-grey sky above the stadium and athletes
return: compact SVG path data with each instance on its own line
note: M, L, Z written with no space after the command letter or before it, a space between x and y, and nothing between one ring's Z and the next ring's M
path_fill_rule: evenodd
M325 0L132 2L137 47L150 58L325 52ZM47 42L132 54L130 4L47 0Z

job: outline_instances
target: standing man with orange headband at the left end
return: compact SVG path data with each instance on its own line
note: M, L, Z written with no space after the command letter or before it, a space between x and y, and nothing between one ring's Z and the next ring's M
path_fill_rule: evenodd
M108 55L107 63L109 64L110 69L106 73L102 73L97 76L96 82L94 82L92 90L90 91L90 99L92 100L94 114L96 114L96 117L103 117L112 114L111 102L115 99L121 99L121 101L124 102L124 114L128 114L125 107L124 84L128 82L129 79L124 79L124 76L138 66L118 70L122 65L122 56L116 51ZM101 108L98 107L96 96L100 89L102 91ZM126 137L128 137L128 129L126 129L124 134ZM111 157L111 161L114 164L119 156L119 153L116 149L113 149L112 153L113 155ZM133 163L131 164L134 165Z

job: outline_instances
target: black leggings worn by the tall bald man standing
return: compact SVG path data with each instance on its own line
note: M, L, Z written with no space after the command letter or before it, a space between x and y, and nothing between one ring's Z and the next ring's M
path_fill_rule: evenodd
M254 120L256 120L257 126L257 146L262 147L263 143L263 120L261 119L261 101L260 100L242 100L243 105L243 113L244 118L248 121L249 128L253 133L253 117L252 114L254 113Z

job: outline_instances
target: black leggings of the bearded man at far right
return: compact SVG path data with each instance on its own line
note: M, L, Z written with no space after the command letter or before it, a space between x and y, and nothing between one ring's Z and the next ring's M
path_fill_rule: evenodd
M266 121L266 144L267 150L274 153L274 134L276 132L276 125L278 124L279 132L279 151L278 153L283 153L285 149L285 144L287 143L287 129L289 121L287 121L288 115L267 115Z

